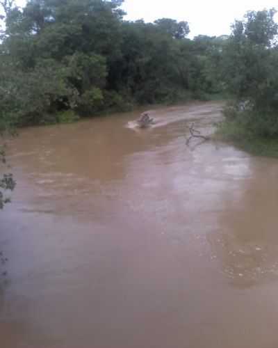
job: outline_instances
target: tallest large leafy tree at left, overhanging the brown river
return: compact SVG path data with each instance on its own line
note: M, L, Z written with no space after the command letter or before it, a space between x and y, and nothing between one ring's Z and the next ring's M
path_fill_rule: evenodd
M22 10L10 8L0 52L1 114L21 126L55 122L68 109L97 111L109 65L120 56L121 4L30 0ZM94 105L85 112L87 102Z

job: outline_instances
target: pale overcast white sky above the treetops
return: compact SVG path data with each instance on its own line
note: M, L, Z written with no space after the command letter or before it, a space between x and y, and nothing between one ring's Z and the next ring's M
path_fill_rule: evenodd
M17 0L20 5L24 0ZM190 24L190 37L195 35L229 34L234 19L241 19L247 10L275 7L277 0L125 0L125 19L145 19L153 22L158 18L186 20ZM277 16L278 19L278 16Z

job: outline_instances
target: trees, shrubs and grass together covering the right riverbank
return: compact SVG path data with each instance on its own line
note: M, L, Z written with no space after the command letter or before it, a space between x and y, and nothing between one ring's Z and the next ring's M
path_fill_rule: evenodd
M256 153L278 138L278 45L276 11L248 12L236 21L222 52L224 86L234 103L220 132ZM267 145L266 145L267 146ZM272 152L270 149L269 152ZM277 152L278 154L278 152Z

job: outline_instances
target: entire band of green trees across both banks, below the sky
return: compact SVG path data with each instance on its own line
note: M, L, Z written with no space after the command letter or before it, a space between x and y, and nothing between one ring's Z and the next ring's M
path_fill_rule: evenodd
M268 113L278 134L275 10L247 13L230 36L190 40L188 22L125 21L122 0L0 3L2 129L229 93Z

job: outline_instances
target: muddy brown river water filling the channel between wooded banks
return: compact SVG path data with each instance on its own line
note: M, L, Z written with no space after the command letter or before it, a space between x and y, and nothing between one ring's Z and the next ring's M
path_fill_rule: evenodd
M209 141L221 104L23 129L0 212L2 348L277 348L278 160ZM197 145L197 146L195 146Z

